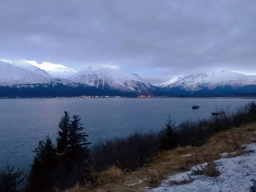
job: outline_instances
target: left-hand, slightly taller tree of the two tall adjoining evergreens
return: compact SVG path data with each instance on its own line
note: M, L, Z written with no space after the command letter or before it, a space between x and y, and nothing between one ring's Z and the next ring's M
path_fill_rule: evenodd
M65 115L62 116L58 125L60 131L58 131L58 137L56 138L57 154L61 160L65 159L68 154L68 140L70 134L70 116L67 111L64 111L64 113Z

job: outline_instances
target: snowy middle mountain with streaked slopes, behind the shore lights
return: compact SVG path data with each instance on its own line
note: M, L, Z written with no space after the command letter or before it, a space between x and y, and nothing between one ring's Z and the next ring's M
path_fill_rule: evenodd
M130 74L119 67L89 67L68 79L103 90L151 93L155 87L144 82L137 74Z

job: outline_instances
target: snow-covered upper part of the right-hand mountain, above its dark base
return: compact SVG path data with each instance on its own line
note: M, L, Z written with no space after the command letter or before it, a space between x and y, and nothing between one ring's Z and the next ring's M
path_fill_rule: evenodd
M180 88L186 92L195 93L203 89L214 90L225 86L235 90L255 84L256 76L246 76L233 71L222 70L183 76L172 83L163 83L159 87L163 90Z

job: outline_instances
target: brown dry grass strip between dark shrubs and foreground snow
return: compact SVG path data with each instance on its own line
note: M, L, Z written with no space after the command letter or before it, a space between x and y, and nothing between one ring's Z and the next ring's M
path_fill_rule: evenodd
M253 128L256 128L256 123L215 134L201 147L186 146L163 151L135 172L124 172L113 166L105 172L98 173L96 183L87 186L77 185L68 191L141 192L145 191L144 187L158 186L162 180L166 179L167 175L186 172L192 166L200 163L209 165L204 170L204 175L218 176L220 171L215 167L213 161L221 158L220 154L224 152L235 152L233 155L244 154L244 152L241 152L240 147L244 144L255 143L252 138L256 138L256 133L254 133L256 129ZM192 180L186 182L190 181L192 182ZM180 183L186 184L186 182Z

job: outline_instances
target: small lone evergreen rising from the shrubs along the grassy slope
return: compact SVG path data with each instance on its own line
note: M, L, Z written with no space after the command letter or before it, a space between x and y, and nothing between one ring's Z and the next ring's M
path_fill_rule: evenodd
M170 116L169 119L166 120L165 127L163 127L163 131L165 135L161 140L162 149L169 150L176 148L178 145L176 125L174 120L171 120Z

